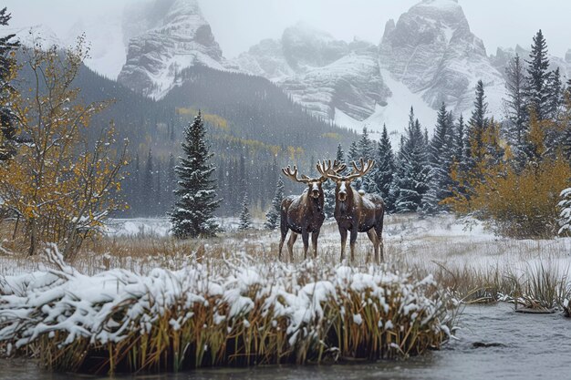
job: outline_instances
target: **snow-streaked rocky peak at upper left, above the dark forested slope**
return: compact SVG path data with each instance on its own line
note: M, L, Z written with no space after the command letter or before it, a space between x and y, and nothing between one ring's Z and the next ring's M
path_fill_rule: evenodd
M125 11L123 31L129 47L118 81L143 95L163 97L185 67L225 69L196 0L136 3Z

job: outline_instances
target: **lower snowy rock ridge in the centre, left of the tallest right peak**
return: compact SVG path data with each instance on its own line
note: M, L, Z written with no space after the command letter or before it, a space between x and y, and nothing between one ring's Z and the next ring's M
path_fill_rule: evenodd
M315 114L334 119L368 118L390 95L379 71L377 48L364 41L339 41L304 23L265 39L238 56L243 71L267 77Z

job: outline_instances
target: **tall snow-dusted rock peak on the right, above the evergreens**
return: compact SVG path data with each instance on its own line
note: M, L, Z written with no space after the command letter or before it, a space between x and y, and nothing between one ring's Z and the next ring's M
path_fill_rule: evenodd
M423 0L400 15L396 25L389 21L379 46L379 63L410 91L420 93L431 108L442 102L457 113L472 108L479 79L491 107L500 104L503 76L492 66L482 40L472 34L455 0Z

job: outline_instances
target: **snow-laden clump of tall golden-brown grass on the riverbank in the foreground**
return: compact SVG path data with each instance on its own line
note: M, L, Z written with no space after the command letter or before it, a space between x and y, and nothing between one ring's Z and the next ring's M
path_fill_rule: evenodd
M52 269L0 277L0 342L49 368L178 371L403 357L450 337L448 298L387 266L193 256L182 269L88 276L48 247Z

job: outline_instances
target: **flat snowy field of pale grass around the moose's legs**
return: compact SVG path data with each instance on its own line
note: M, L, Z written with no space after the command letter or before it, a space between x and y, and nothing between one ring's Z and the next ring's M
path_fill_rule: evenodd
M221 221L224 229L210 240L175 241L168 237L166 219L114 220L109 223L103 252L82 252L74 262L79 272L93 274L112 268L148 273L155 267L182 268L193 256L223 258L248 254L256 260L277 260L279 231L235 231L237 220ZM261 228L263 221L256 221ZM512 273L521 275L538 265L555 269L562 277L571 267L571 239L514 240L495 236L478 221L458 220L452 215L422 217L389 215L383 231L385 261L396 270L434 272L436 270ZM326 221L319 237L318 260L339 262L340 239L335 221ZM303 244L296 241L295 262L303 261ZM348 252L348 247L347 251ZM356 265L372 255L366 234L359 234ZM309 250L311 252L311 248ZM287 258L284 246L283 257ZM41 269L37 258L0 253L0 275Z

